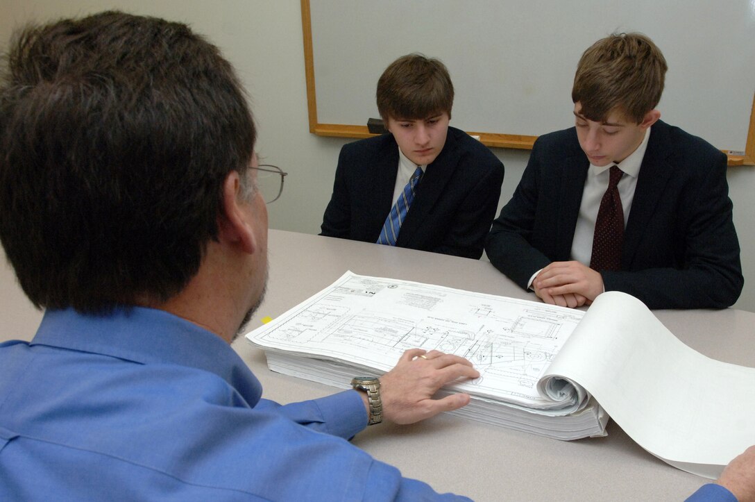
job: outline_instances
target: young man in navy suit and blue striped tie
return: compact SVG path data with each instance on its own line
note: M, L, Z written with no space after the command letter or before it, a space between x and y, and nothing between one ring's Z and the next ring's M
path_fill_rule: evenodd
M388 66L377 82L377 109L389 134L341 149L320 235L482 256L504 166L486 146L448 126L453 101L439 60L409 54ZM413 199L405 200L415 173ZM398 201L408 212L391 226Z

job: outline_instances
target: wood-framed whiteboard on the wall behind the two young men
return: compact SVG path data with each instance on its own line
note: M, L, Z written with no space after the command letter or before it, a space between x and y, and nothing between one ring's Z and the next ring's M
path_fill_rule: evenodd
M661 119L723 150L744 152L752 136L753 0L302 0L302 14L305 53L311 18L310 129L322 134L366 135L368 118L380 116L377 79L421 52L451 73L451 125L529 147L573 124L582 52L612 32L639 31L669 66Z

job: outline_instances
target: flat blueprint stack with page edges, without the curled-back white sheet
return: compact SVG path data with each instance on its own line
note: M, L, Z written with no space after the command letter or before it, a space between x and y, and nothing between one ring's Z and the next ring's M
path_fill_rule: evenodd
M380 375L405 350L463 356L480 377L443 392L470 405L451 413L558 439L605 435L609 416L579 386L550 378L550 362L584 316L581 310L346 273L328 288L247 335L271 370L349 388L356 374Z

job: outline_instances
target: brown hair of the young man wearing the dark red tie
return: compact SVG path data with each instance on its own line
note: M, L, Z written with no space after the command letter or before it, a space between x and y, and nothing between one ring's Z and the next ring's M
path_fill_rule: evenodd
M581 103L581 115L595 122L606 121L618 109L639 124L661 100L666 69L661 50L646 35L609 35L582 54L572 101Z

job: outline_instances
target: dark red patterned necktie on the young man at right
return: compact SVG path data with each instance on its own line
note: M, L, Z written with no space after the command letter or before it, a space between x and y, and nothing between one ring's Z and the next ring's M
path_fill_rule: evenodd
M609 187L600 200L598 218L595 220L593 254L590 268L594 270L621 269L621 245L624 243L624 209L618 195L618 180L624 174L617 166L611 166Z

